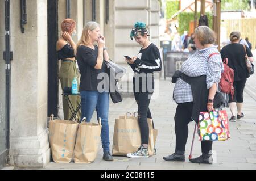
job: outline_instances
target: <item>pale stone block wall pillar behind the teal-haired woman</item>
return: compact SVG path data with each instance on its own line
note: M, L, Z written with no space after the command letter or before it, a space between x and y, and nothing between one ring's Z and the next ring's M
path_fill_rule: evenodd
M133 96L133 70L123 56L137 56L141 45L130 39L135 22L144 22L150 32L150 41L159 46L159 2L158 0L114 1L114 61L127 70L122 78L123 96Z

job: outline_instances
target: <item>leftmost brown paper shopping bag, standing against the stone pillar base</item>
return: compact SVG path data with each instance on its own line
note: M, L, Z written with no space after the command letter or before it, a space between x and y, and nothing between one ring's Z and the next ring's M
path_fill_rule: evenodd
M49 142L53 161L56 163L69 163L73 158L77 128L79 123L69 120L49 121Z

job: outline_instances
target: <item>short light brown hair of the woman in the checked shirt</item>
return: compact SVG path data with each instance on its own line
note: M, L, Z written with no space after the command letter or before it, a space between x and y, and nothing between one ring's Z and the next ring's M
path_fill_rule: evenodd
M201 45L214 44L216 41L215 32L207 26L199 26L195 29L195 36L200 41Z

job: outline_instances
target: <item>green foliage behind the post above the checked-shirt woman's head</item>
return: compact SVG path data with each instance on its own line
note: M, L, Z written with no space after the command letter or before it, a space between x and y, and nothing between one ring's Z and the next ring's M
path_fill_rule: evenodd
M208 18L209 27L212 28L212 13L206 12L205 13ZM200 12L197 13L197 23L200 18ZM181 12L177 16L179 22L179 29L178 32L180 35L184 33L185 30L189 32L189 23L194 20L194 13L193 12Z

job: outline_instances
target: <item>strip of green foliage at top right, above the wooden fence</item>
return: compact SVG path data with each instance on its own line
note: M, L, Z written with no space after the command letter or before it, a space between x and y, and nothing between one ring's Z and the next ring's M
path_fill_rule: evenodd
M248 10L249 9L248 0L222 0L221 10Z

